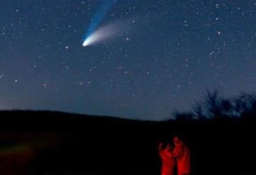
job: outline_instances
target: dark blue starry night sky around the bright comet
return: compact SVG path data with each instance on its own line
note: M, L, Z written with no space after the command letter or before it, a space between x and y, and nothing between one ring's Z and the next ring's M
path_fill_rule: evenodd
M256 0L116 0L97 25L121 31L82 47L102 1L0 1L1 110L161 120L255 91Z

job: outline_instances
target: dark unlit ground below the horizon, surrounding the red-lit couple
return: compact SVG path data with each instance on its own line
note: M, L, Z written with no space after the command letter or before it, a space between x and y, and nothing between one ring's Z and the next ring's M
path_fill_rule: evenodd
M256 174L255 120L148 122L0 112L0 174L160 174L158 145L182 133L193 174Z

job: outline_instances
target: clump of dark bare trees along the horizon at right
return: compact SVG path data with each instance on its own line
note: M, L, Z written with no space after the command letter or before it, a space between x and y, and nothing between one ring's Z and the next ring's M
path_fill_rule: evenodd
M196 101L191 111L177 111L171 113L172 119L210 119L210 118L255 118L256 95L241 93L231 98L223 98L217 90L206 90L203 101ZM256 119L256 118L255 118Z

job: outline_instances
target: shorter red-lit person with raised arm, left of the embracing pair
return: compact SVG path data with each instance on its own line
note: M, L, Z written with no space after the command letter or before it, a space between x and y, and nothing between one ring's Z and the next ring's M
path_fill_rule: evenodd
M172 155L171 144L164 148L163 144L159 145L159 155L161 157L161 175L174 175L175 158Z

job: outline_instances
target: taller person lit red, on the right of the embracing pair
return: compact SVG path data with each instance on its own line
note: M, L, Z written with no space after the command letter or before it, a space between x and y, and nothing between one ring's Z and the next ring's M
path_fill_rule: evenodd
M178 175L191 174L190 148L177 136L173 138L174 150L172 156L176 158Z

